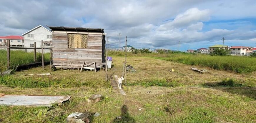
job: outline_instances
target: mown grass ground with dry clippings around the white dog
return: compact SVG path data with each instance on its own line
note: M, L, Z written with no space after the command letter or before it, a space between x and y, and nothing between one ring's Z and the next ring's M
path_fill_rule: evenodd
M154 57L154 56L153 56ZM113 57L110 75L122 74L124 57ZM128 57L137 71L127 73L121 95L105 82L105 71L50 71L32 68L0 77L0 93L70 95L53 107L0 106L1 122L65 122L73 112L99 112L92 122L256 122L256 73L237 74L147 57ZM207 69L200 74L189 67ZM174 69L174 72L169 70ZM50 76L26 74L51 73ZM87 103L92 94L104 100ZM122 107L128 113L122 114ZM141 111L139 110L141 109ZM123 116L121 121L116 117Z

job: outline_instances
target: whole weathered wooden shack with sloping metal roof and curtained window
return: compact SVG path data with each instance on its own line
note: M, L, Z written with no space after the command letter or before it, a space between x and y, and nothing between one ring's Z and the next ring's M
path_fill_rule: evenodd
M52 30L52 55L55 68L81 68L94 66L101 68L105 63L104 29L56 27ZM92 67L93 68L93 67Z

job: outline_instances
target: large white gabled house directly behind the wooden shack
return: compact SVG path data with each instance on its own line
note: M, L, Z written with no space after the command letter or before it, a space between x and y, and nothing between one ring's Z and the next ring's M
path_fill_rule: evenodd
M36 42L36 47L40 47L42 40L44 42L51 41L51 31L41 25L23 33L22 36L24 38L24 47L34 47L34 42Z

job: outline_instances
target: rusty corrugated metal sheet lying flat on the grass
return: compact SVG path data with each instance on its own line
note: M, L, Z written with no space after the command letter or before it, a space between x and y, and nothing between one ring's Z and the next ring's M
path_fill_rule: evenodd
M70 96L34 96L34 95L4 95L0 97L0 105L47 106L62 103Z

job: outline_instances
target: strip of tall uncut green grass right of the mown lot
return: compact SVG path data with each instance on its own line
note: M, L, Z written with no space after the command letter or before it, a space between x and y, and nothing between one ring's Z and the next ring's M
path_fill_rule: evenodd
M124 52L109 52L110 56L124 56ZM132 54L132 57L152 57L171 62L178 62L187 65L197 65L203 67L210 67L216 70L235 71L237 73L252 73L256 71L255 57L240 57L240 56L210 56L205 54L191 54L191 53L149 53L149 54Z

